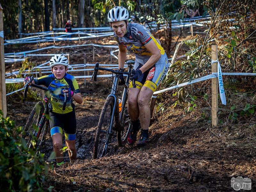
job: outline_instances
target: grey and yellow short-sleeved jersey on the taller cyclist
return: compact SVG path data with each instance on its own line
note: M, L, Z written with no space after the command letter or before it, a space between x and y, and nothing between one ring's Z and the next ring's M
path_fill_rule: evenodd
M161 55L164 55L164 48L156 41L147 28L138 23L129 23L123 37L118 37L114 32L114 38L117 44L123 44L128 51L133 52L136 59L148 60L151 57L152 54L144 46L150 41L154 41Z

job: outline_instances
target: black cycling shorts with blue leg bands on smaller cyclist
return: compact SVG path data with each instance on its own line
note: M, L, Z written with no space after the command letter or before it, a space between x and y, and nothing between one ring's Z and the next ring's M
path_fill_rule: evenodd
M76 113L75 110L59 114L55 112L49 112L51 135L54 133L65 132L66 140L76 140Z

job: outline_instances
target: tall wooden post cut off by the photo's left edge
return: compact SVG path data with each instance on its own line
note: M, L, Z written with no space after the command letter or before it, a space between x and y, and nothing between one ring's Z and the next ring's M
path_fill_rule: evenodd
M3 8L0 4L0 32L3 33ZM4 63L4 37L0 37L0 109L3 112L3 117L5 118L7 115L7 107L6 107L6 87L5 87L5 63Z

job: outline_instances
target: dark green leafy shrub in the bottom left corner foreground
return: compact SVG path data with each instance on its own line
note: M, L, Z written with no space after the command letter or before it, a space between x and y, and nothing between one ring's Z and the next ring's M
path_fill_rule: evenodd
M44 154L28 152L21 132L22 128L15 128L14 121L3 118L0 110L1 191L43 191L48 174Z

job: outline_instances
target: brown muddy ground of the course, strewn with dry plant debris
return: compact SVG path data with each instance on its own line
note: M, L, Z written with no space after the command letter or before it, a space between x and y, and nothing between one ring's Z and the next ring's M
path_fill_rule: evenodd
M176 36L173 35L172 46L178 36L179 31ZM192 36L186 31L180 38L181 40L191 39ZM92 43L116 45L113 39L106 37L92 40ZM163 39L161 43L164 44ZM59 46L67 44L78 44L78 42L56 42ZM40 46L50 45L52 44L45 43ZM36 49L36 44L6 47L5 52L31 49ZM104 64L110 61L109 50L101 48L96 49L95 61L92 60L92 48L51 49L40 53L60 52L69 53L70 62L73 64L83 63L84 58L89 63L97 61ZM172 58L173 52L174 50L168 52L169 58ZM179 55L182 54L184 52L181 50ZM132 59L132 56L130 58ZM49 58L29 58L29 60L40 64ZM114 59L113 62L117 63ZM16 63L16 65L19 67L20 64ZM10 67L10 65L6 66L6 72ZM12 67L15 68L15 66ZM83 73L76 72L71 75L83 75ZM53 170L49 170L50 183L45 183L45 188L53 186L54 191L65 192L223 192L235 191L231 187L231 179L242 176L251 179L251 191L256 191L255 115L237 122L230 122L226 120L228 115L224 114L220 119L225 123L212 127L207 117L201 116L203 110L205 114L211 114L211 108L207 102L202 104L202 108L188 114L183 109L168 109L156 114L153 123L150 124L149 144L146 147L137 148L126 145L120 148L113 140L105 157L92 160L94 135L100 111L110 90L105 78L97 82L86 79L85 85L83 79L77 79L77 81L84 99L81 105L76 103L77 160L70 164L68 158L65 158L63 167L54 166ZM7 100L8 116L11 116L17 126L23 126L28 112L36 101L11 98ZM232 100L246 103L246 98L243 96L234 96ZM255 102L255 98L252 102ZM225 111L226 107L219 104L219 108ZM50 133L47 141L52 142ZM45 153L46 160L52 150L51 144L42 151ZM67 152L65 156L68 156ZM241 189L241 191L245 190Z

